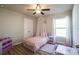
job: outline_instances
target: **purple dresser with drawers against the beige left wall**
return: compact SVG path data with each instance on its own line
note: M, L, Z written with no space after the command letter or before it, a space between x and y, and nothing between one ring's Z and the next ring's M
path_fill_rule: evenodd
M0 39L0 54L4 54L12 48L12 40L10 37Z

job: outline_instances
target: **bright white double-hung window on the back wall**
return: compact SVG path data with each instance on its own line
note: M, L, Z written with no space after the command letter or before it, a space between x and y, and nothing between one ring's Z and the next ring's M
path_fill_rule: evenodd
M55 36L56 37L68 37L68 24L69 18L66 16L64 18L55 19Z

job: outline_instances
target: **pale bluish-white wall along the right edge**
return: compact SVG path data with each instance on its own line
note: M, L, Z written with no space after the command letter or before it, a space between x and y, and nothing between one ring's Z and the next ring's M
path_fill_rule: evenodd
M73 44L79 45L79 5L73 7Z

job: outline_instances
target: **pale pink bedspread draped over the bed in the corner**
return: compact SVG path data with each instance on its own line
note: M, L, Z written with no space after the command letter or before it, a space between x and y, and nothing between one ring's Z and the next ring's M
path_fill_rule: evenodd
M24 39L24 42L28 44L29 46L33 46L34 51L38 50L42 45L47 43L48 37L31 37L28 39Z

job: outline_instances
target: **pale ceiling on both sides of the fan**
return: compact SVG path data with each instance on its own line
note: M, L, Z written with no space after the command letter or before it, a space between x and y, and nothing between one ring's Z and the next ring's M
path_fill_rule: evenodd
M32 11L26 9L35 9L36 4L5 4L2 7L12 11L20 12L25 15L33 15ZM72 10L72 4L41 4L41 8L50 8L50 11L44 11L45 15L63 13Z

